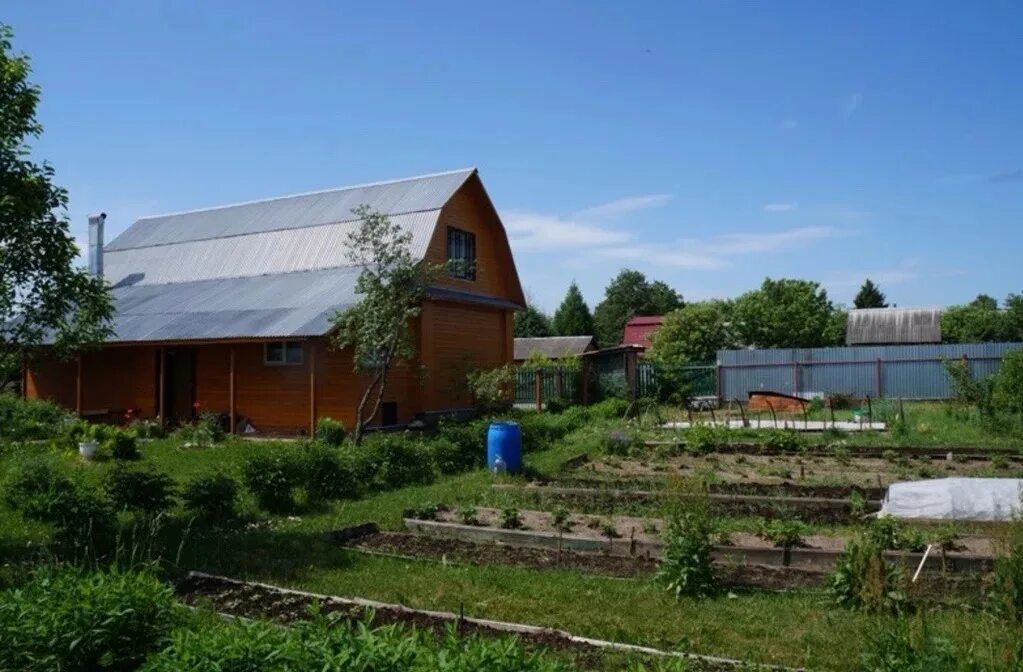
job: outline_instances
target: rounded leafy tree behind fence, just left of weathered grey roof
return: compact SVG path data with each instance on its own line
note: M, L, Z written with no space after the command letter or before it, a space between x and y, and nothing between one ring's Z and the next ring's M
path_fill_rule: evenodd
M739 341L754 348L819 348L830 345L835 306L810 280L767 278L736 301Z

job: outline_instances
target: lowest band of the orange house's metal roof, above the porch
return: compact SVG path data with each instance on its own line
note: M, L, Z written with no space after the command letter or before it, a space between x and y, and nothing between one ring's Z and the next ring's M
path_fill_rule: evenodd
M359 270L116 287L108 342L321 335L355 303Z

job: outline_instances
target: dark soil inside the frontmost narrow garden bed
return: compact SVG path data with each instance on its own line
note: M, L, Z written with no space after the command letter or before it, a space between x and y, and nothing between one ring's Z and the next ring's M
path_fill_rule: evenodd
M262 584L206 575L189 575L178 584L177 590L181 598L188 604L210 607L221 614L242 618L268 618L291 623L308 618L309 608L313 603L318 603L321 614L338 615L350 624L363 622L371 614L370 624L373 627L392 624L412 626L433 630L440 636L447 626L454 623L459 634L462 635L508 636L510 634L483 623L442 614L409 610L398 606L375 606L375 608L369 609L329 595L308 595ZM569 652L583 668L598 667L602 659L609 653L605 648L573 640L568 633L553 629L520 632L516 633L515 636L530 647L557 648ZM686 658L688 659L686 669L700 672L737 669L735 664L727 661L719 662L699 657Z

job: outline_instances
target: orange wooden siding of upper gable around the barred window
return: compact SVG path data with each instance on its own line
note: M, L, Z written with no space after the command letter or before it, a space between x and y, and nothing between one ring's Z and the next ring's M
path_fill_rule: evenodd
M466 182L441 210L437 230L427 249L428 261L434 264L447 261L449 226L476 234L476 279L444 276L437 284L525 304L507 236L478 178Z

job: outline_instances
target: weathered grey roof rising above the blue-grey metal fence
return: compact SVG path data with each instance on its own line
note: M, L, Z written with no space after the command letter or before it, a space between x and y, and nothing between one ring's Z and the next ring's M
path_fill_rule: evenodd
M847 346L941 343L937 308L860 308L849 311Z

